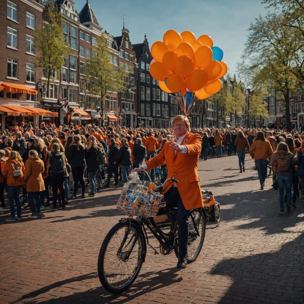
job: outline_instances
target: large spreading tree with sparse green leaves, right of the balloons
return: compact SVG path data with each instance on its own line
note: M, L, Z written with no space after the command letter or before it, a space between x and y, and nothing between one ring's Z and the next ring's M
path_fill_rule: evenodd
M294 73L297 37L286 26L286 20L275 14L255 19L249 31L239 71L251 82L253 90L273 88L283 93L290 129L289 91L298 83Z

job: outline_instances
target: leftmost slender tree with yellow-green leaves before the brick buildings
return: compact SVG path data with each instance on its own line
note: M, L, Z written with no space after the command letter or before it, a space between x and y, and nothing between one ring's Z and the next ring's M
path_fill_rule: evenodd
M39 55L36 65L44 69L47 78L46 96L49 97L50 82L55 72L59 73L68 56L69 47L63 39L61 13L53 1L48 1L44 8L47 22L42 28L36 29L35 46Z

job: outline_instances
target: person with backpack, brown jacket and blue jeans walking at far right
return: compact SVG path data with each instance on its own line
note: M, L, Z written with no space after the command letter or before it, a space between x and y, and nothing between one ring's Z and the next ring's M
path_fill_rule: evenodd
M280 142L276 151L271 156L270 165L275 172L279 186L280 213L284 213L284 187L287 194L287 211L290 212L291 206L291 187L292 187L292 164L294 156L289 151L285 142Z

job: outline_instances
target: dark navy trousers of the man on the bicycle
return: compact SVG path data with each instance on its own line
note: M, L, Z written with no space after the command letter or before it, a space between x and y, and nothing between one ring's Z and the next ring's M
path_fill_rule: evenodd
M187 218L190 210L185 209L177 187L172 186L165 194L164 200L167 207L177 207L176 220L178 224L178 252L180 257L186 256L189 235L189 222Z

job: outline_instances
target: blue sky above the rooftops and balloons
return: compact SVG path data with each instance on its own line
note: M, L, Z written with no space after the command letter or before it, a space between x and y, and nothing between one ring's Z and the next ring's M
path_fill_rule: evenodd
M261 0L89 0L98 22L108 33L119 36L122 17L130 31L131 43L137 44L147 34L150 47L163 40L168 30L193 32L198 38L208 34L214 46L224 52L228 73L236 73L236 63L244 49L247 29L254 18L265 16ZM80 12L85 0L75 0Z

